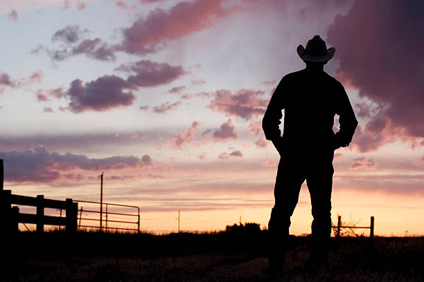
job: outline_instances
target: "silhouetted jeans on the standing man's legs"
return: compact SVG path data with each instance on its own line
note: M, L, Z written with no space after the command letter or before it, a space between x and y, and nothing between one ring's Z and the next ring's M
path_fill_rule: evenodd
M285 150L281 155L274 187L270 232L270 263L284 263L288 246L290 217L306 180L312 204L312 245L309 263L328 263L328 241L331 234L331 189L334 151L319 153Z

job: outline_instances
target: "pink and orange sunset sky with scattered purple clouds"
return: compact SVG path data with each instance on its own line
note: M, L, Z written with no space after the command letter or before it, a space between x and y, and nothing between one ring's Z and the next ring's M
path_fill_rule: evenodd
M144 231L175 231L178 210L184 230L240 216L265 227L279 154L260 122L318 34L359 121L335 152L333 223L375 216L377 235L424 234L423 1L2 0L0 12L12 194L100 200L104 171L104 200L141 207ZM311 220L304 184L291 233Z

